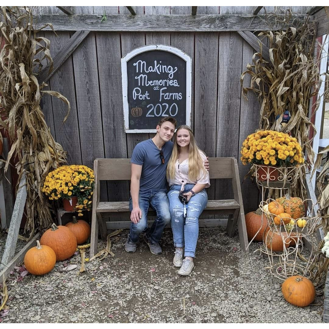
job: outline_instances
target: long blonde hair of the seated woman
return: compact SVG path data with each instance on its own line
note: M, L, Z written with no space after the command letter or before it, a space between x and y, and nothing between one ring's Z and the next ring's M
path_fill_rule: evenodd
M196 182L200 178L200 173L206 173L204 167L204 161L200 156L202 152L196 145L193 132L189 126L179 126L174 136L174 147L172 149L171 157L167 165L167 179L173 180L175 178L175 164L180 153L180 146L176 142L176 136L180 129L186 129L190 133L190 144L189 144L189 180ZM203 152L202 152L203 153Z

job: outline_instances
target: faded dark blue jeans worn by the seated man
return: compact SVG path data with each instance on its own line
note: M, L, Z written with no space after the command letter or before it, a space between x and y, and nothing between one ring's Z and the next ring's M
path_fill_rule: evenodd
M142 212L142 218L137 224L131 223L129 241L136 243L139 234L147 230L147 211L149 206L157 213L157 218L151 228L146 232L148 240L154 244L159 243L164 227L170 222L169 202L166 190L149 190L139 192L139 208ZM133 201L129 200L130 211L133 210Z

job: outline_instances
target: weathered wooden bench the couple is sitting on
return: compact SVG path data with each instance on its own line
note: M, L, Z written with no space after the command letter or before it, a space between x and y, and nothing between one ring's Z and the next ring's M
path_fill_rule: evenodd
M211 179L232 179L234 199L232 200L208 200L203 215L229 215L227 220L227 233L234 236L235 228L238 225L240 245L247 251L248 239L244 220L242 195L238 162L235 158L209 158L209 176ZM91 245L90 257L97 253L98 231L102 240L106 240L108 229L130 228L129 201L121 202L99 202L99 182L107 180L130 180L131 163L130 159L95 159L94 161L95 189L92 200L91 217ZM102 214L109 216L117 212L127 213L127 220L105 222ZM155 215L150 207L148 215ZM215 227L220 219L200 219L200 227ZM152 221L148 221L150 225Z

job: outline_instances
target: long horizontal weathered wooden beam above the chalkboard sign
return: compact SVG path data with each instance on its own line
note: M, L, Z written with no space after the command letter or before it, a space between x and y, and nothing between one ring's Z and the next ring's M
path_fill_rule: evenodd
M266 31L279 30L282 23L267 15L107 15L94 14L58 15L40 14L35 28L51 23L55 31L140 31L140 32L219 32L219 31ZM305 15L294 14L291 21L302 22ZM282 19L284 16L282 15ZM311 18L312 19L312 18ZM45 30L51 30L46 27Z

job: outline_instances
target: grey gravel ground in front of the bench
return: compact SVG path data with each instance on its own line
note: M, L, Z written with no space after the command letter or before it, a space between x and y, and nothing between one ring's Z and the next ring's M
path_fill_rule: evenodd
M0 322L322 322L323 291L307 307L287 303L282 281L265 269L267 256L254 253L260 245L253 243L247 255L238 235L229 238L223 227L200 229L188 277L172 264L171 230L164 231L159 256L143 242L126 253L127 234L111 239L114 257L86 262L80 275L80 254L39 277L24 276L18 266L7 280L9 309ZM77 268L62 271L70 264Z

